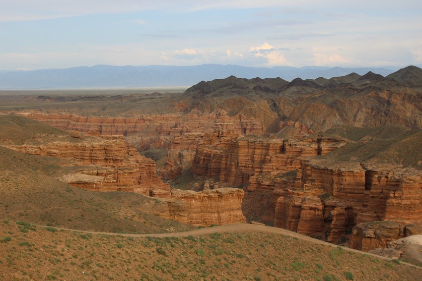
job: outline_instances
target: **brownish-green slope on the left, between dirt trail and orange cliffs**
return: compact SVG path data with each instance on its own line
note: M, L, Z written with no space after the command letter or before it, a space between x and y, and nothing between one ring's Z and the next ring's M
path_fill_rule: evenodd
M88 192L55 179L59 160L0 147L0 219L114 232L155 233L192 226L141 212L154 199L135 193Z

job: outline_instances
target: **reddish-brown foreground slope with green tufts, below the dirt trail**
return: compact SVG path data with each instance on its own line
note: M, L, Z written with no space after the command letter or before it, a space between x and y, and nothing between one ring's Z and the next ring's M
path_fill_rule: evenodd
M421 280L422 270L281 234L123 237L0 222L6 280Z

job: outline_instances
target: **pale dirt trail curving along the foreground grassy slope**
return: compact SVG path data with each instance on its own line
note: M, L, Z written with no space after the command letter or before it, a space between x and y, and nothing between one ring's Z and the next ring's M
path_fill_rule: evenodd
M41 226L41 225L40 225ZM204 228L198 228L194 230L189 231L183 231L183 232L169 232L169 233L154 233L154 234L136 234L136 233L114 233L114 232L97 232L97 231L84 231L84 230L76 230L76 229L68 229L68 228L58 228L58 229L64 229L64 230L70 230L70 231L78 231L78 232L84 232L84 233L91 233L91 234L100 234L100 235L119 235L124 237L186 237L186 236L199 236L199 235L207 235L212 233L231 233L231 232L262 232L262 233L271 233L271 234L282 234L289 237L296 237L298 239L302 239L305 241L310 241L312 243L322 244L330 247L338 247L338 245L324 242L306 235L302 235L296 232L292 232L283 228L279 227L272 227L272 226L266 226L266 225L253 225L253 224L235 224L235 225L218 225L213 227L204 227ZM344 250L359 253L362 255L368 255L377 257L379 259L388 260L391 261L390 258L386 258L383 256L378 256L375 254L362 252L359 250L351 249L343 247ZM422 267L401 262L402 264L412 266L415 268L422 269Z

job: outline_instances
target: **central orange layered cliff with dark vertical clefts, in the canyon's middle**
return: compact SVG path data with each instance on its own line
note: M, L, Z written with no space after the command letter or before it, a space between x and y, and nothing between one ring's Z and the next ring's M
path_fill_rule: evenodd
M277 137L215 138L204 136L193 160L193 173L197 176L218 177L231 185L250 183L255 190L261 173L280 174L298 169L305 156L324 155L346 141L330 138L301 138L284 140ZM251 179L251 180L250 180Z

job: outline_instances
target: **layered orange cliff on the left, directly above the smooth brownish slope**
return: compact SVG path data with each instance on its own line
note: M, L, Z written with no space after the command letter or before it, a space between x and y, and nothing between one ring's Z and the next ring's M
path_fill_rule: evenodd
M69 161L71 172L62 180L93 191L131 191L170 197L170 187L155 173L155 162L141 156L123 136L95 138L87 142L52 142L44 145L11 145L32 155ZM159 190L160 192L157 192Z

